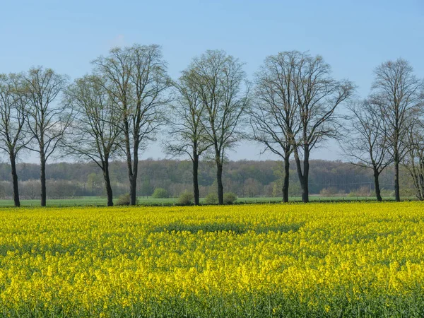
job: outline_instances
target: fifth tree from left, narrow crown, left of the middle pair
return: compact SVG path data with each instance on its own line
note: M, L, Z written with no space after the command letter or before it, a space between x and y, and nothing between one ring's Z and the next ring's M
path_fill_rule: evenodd
M199 194L199 157L211 145L206 139L205 127L201 122L205 105L196 90L196 74L193 69L183 71L174 83L177 90L175 104L171 105L168 122L169 140L165 142L165 151L172 155L188 155L193 164L194 204L200 203Z

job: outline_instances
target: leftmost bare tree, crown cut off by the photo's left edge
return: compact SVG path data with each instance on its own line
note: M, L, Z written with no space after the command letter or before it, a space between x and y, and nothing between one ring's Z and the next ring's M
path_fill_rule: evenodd
M16 158L28 143L24 125L28 100L22 89L21 77L0 74L0 148L8 154L11 163L13 201L20 206Z

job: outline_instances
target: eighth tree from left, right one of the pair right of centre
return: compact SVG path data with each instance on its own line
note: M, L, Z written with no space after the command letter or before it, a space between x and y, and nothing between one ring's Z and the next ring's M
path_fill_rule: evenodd
M350 81L331 78L329 64L319 55L312 57L298 52L293 64L293 93L300 117L293 152L302 201L309 202L310 153L322 141L341 135L341 116L336 113L336 108L351 98L354 87Z

